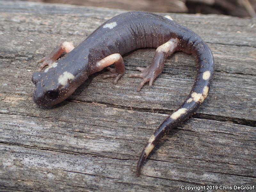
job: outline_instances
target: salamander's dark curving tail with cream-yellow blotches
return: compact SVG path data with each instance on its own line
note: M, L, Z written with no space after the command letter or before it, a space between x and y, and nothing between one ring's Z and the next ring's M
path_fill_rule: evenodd
M196 46L193 47L194 51L192 54L194 54L197 60L197 76L193 88L188 95L188 98L183 102L180 108L168 116L158 127L156 132L149 138L140 155L137 165L137 175L140 175L140 169L143 162L146 160L159 140L168 131L176 128L186 119L192 116L208 95L214 73L212 52L203 41L196 42L195 44Z

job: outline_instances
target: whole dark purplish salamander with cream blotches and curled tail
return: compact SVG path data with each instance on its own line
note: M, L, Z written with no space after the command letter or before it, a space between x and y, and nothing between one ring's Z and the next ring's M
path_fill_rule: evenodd
M114 78L114 83L124 75L122 55L140 48L156 48L152 63L137 67L139 73L129 77L140 77L139 92L146 82L152 86L154 79L164 68L164 60L174 52L192 54L196 59L195 83L183 104L168 116L151 135L142 150L137 175L150 152L166 134L179 126L199 108L208 95L214 74L214 60L210 48L190 29L150 12L126 12L106 21L81 44L74 47L63 42L40 62L38 72L33 74L36 85L33 100L39 106L53 106L67 99L88 76L108 68L110 74L103 78ZM60 57L63 55L63 57ZM114 64L115 68L109 66ZM42 69L48 66L42 71Z

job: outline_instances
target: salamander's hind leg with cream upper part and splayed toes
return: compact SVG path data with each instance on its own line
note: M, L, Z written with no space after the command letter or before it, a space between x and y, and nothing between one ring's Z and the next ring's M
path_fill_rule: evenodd
M150 66L146 68L137 67L137 70L140 70L141 73L129 74L129 77L140 77L143 78L142 82L140 83L137 91L139 92L140 89L146 82L149 82L149 86L152 86L153 81L159 74L163 71L164 68L164 60L170 54L177 50L179 40L177 38L172 38L166 43L162 44L156 49L154 58Z

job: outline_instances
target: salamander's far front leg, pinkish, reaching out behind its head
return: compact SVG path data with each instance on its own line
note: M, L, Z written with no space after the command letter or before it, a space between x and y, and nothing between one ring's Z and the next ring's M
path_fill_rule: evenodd
M43 62L38 71L42 71L42 69L45 66L52 66L52 63L54 63L57 59L60 58L60 56L63 53L68 53L70 51L72 51L74 49L74 45L70 42L64 41L62 42L59 46L57 46L50 54L46 55L45 57L43 57L43 59L39 60L38 63Z

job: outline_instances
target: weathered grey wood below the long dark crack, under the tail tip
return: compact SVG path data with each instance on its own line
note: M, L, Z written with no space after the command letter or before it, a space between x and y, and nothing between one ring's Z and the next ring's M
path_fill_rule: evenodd
M78 180L82 182L80 187L83 188L91 185L100 189L102 184L108 188L108 185L114 185L115 180L112 179L115 178L123 184L138 184L134 189L140 191L145 187L159 185L159 178L162 179L160 189L163 190L163 185L166 185L173 186L174 191L179 189L182 182L185 185L255 182L254 127L190 119L164 138L145 164L141 177L137 178L134 173L138 154L148 135L167 115L85 103L66 102L65 106L67 108L62 111L56 108L53 112L46 112L46 118L42 118L43 114L35 114L35 117L1 115L4 127L1 143L13 145L3 145L3 148L8 149L2 149L6 158L1 167L9 172L12 179L17 180L20 175L17 172L11 174L8 166L12 160L9 155L24 153L13 156L20 162L18 164L21 164L22 169L31 167L29 173L32 176L28 180L33 181L38 169L45 167L46 170L56 169L56 172L43 171L53 175L62 175L64 173L58 173L62 172L59 169L65 169L64 172L92 174L101 181L91 183L90 179L85 182L86 179L81 176ZM59 116L48 116L54 112L60 113ZM32 154L28 156L27 150ZM41 155L37 157L33 153ZM26 158L23 159L23 156ZM28 162L29 159L32 161ZM11 168L15 169L15 166ZM20 172L22 174L23 171ZM111 181L101 180L101 177L109 177ZM148 180L148 177L158 179L153 181ZM62 180L68 182L68 177L64 176ZM58 187L62 185L60 183ZM114 189L113 186L110 189ZM120 186L115 186L115 189L120 190Z

